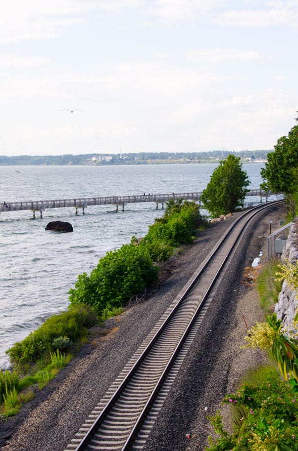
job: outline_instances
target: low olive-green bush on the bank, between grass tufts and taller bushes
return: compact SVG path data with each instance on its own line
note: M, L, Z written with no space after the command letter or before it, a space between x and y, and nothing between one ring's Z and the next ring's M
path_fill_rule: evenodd
M96 323L96 315L89 306L73 306L68 311L46 319L36 331L6 351L11 360L21 367L50 355L56 350L53 343L61 336L79 342Z

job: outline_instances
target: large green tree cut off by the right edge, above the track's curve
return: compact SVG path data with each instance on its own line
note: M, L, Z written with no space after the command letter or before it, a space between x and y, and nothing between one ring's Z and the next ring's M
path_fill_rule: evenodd
M293 219L298 208L298 125L290 130L288 136L277 140L274 152L268 153L267 160L265 168L261 169L264 180L261 187L284 193L290 219Z

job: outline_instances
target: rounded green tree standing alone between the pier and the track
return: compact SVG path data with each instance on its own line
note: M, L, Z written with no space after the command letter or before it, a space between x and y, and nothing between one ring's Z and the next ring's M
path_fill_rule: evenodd
M250 184L246 171L242 171L240 158L228 155L213 171L210 182L202 193L204 207L213 218L235 211L244 205L245 194Z

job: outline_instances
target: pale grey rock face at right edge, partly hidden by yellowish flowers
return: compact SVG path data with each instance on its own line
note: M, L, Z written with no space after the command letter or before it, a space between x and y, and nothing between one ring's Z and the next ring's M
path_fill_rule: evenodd
M290 228L281 259L283 262L287 260L291 263L295 263L298 260L298 218L293 221ZM291 330L293 329L293 319L297 304L296 293L284 281L281 292L279 293L278 303L275 305L275 312L277 317L282 319L283 324Z

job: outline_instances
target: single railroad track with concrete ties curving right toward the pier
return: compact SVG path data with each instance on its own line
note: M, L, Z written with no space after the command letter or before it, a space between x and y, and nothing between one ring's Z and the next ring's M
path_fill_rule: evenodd
M65 451L143 449L242 234L256 215L280 202L245 211L231 224Z

